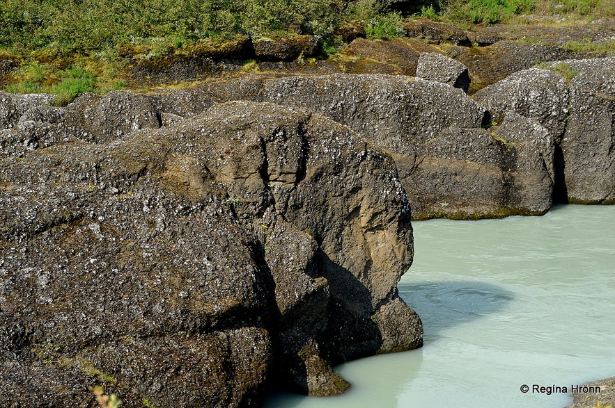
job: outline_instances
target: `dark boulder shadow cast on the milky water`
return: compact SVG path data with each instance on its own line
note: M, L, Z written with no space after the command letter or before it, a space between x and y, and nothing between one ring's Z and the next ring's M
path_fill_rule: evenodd
M426 343L444 329L506 309L514 293L480 281L420 281L398 284L400 297L419 313Z

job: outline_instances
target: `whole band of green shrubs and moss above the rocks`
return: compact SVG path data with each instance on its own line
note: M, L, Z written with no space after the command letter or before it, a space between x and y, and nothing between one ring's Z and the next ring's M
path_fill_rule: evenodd
M20 65L8 92L48 92L66 104L83 92L124 86L134 60L160 60L237 48L242 39L314 35L322 56L343 45L340 29L371 39L405 35L406 18L495 24L524 13L615 16L612 0L417 0L401 13L388 0L3 0L0 59ZM414 14L413 14L414 13ZM590 18L590 17L588 17ZM569 42L582 52L611 52L615 40ZM245 58L249 58L246 56ZM297 63L305 63L304 58ZM258 71L248 60L244 72Z

